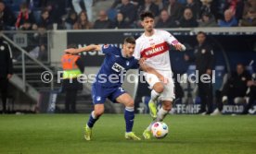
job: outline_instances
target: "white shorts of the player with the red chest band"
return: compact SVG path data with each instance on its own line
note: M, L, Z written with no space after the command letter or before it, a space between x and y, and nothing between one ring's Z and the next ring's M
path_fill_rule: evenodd
M173 82L173 73L172 71L160 71L157 70L163 77L168 79L168 83L164 84L164 89L162 93L160 93L159 100L160 101L173 101L175 99L174 93L174 82ZM149 74L144 72L144 77L146 78L147 84L149 85L149 89L153 89L153 86L161 82L159 77L154 74Z

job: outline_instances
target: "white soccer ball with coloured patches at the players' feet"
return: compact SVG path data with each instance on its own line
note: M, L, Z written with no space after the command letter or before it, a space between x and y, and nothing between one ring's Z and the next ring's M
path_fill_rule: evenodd
M168 125L162 122L156 122L151 126L151 132L156 138L163 138L168 134Z

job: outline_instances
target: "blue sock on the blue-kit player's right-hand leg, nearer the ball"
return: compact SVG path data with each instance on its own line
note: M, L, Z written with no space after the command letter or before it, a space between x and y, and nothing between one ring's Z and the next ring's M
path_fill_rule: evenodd
M126 123L126 132L132 132L134 126L134 107L125 107L124 119Z

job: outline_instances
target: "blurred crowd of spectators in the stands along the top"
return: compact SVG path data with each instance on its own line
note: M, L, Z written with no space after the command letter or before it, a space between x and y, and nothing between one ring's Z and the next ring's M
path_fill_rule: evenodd
M2 30L141 28L139 14L155 14L156 28L256 26L255 0L0 0Z

